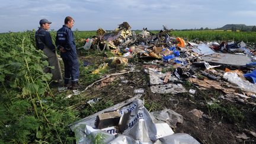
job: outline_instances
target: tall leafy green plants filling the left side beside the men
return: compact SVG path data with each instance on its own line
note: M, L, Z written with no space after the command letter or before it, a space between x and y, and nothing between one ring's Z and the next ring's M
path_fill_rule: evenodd
M34 31L2 34L0 46L0 141L72 142L68 124L78 112L55 104L61 95L49 88L52 75L43 72L48 63L34 47Z

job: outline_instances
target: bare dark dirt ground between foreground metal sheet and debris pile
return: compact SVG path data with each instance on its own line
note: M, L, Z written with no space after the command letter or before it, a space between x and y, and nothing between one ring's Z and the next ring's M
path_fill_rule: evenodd
M99 65L104 61L104 57L83 57L82 60ZM224 93L216 89L199 90L194 85L184 87L196 89L195 94L185 92L183 94L153 94L150 90L149 75L145 72L145 64L143 60L131 62L124 69L117 70L110 66L110 72L129 71L131 66L134 66L135 72L125 73L123 75L113 76L114 80L104 87L97 88L100 82L87 89L87 94L93 98L101 97L102 100L113 100L114 104L127 100L135 95L134 89L143 88L145 93L142 98L145 100L145 107L149 111L163 110L170 108L184 117L183 123L178 123L174 128L175 133L188 133L197 139L200 143L256 143L256 137L248 132L256 130L256 110L248 104L231 103L230 101L220 99ZM82 86L84 89L86 86ZM82 94L81 94L82 95ZM217 100L219 105L227 108L235 108L235 111L226 111L222 108L214 109L207 106L207 101ZM255 101L255 100L253 100ZM203 111L206 116L199 118L188 111L196 108ZM223 110L223 111L219 111ZM236 116L241 113L243 119L236 119ZM237 114L237 115L236 115ZM235 119L231 119L234 117ZM83 116L81 116L83 118ZM236 136L245 133L249 138L242 139Z

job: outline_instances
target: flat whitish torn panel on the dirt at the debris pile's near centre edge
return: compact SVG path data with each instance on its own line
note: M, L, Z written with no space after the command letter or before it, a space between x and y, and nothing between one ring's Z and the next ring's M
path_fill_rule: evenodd
M151 85L151 92L158 94L178 94L187 92L181 84Z

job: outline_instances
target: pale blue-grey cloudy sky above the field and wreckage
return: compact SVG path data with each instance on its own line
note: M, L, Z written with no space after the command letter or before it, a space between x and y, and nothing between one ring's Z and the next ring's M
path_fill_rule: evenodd
M0 33L37 29L42 18L51 29L66 16L75 30L114 30L127 21L132 30L217 28L225 24L256 25L255 0L0 0Z

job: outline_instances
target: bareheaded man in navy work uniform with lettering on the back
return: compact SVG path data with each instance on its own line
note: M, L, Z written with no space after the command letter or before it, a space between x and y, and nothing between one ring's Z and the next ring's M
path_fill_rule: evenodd
M71 89L78 89L79 63L76 57L76 44L73 36L74 20L72 17L65 18L65 25L57 31L56 46L60 50L60 56L64 63L64 84L68 86L71 79Z

